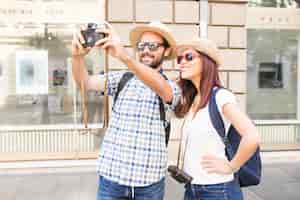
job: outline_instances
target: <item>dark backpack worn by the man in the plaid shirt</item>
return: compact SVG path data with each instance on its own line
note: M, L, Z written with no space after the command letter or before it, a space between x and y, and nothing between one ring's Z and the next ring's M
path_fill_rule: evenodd
M119 93L124 88L126 83L133 77L132 72L125 72L118 84L117 92L114 96L114 103L113 107L118 99ZM164 74L161 74L166 80L167 77ZM170 138L170 130L171 130L171 123L170 121L166 120L166 112L165 112L165 106L163 100L160 98L160 96L157 95L157 98L159 99L159 113L160 113L160 120L163 122L164 128L165 128L165 143L166 146L168 146L169 138Z

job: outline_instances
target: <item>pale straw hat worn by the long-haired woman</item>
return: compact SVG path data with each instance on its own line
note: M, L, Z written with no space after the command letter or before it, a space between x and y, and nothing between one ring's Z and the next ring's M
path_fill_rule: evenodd
M191 41L182 42L177 45L176 53L178 55L182 53L184 50L189 48L193 48L199 51L200 53L207 55L213 61L215 61L218 66L222 64L220 51L217 45L211 40L208 40L206 38L196 37Z

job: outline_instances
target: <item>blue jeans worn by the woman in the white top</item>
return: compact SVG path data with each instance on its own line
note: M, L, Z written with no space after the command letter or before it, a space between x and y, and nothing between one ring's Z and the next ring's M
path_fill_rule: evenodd
M213 185L187 184L184 200L243 200L243 193L235 180Z

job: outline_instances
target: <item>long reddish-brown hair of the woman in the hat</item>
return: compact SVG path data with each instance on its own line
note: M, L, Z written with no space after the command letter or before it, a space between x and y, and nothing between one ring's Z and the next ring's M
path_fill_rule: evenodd
M199 109L204 108L210 98L213 87L223 87L220 81L218 73L218 65L214 60L201 52L200 58L202 61L202 75L200 80L200 104L198 105L196 112ZM182 99L180 103L175 107L175 115L177 117L184 117L185 114L190 110L194 98L197 95L197 89L190 80L185 80L180 77L179 86L182 89Z

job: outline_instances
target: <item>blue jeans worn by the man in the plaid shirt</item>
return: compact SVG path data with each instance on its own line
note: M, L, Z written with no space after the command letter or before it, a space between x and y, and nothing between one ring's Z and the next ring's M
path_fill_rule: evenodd
M97 200L163 200L164 191L165 178L149 186L130 187L100 176Z

